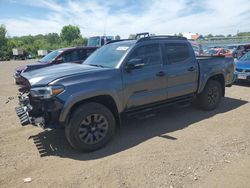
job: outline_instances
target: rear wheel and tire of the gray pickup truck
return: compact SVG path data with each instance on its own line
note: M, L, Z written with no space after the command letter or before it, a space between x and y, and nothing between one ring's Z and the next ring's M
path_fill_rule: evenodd
M203 110L217 108L222 97L222 86L216 80L209 80L201 94L197 96L195 104Z

